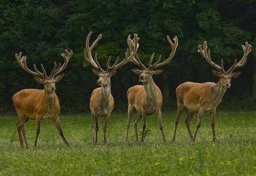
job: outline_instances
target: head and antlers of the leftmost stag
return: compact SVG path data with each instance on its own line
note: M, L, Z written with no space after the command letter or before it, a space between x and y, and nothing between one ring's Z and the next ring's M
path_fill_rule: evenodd
M35 64L34 64L34 71L31 71L28 67L27 67L27 57L23 56L22 57L22 53L20 52L19 55L16 53L15 57L16 60L18 61L20 67L23 68L23 70L27 71L29 74L34 75L34 79L37 83L42 83L44 85L44 89L49 92L52 93L55 91L55 83L61 81L61 79L63 79L64 74L58 75L61 71L64 70L64 68L67 66L69 59L71 58L73 51L71 50L71 52L69 53L68 50L65 50L65 52L67 53L67 55L65 53L61 54L61 57L63 57L65 59L65 62L63 64L63 66L61 66L61 63L59 63L59 67L57 67L56 62L54 63L54 67L52 70L52 73L50 76L46 75L46 70L44 70L44 66L41 64L42 67L42 71L40 72L38 71L38 69L36 68ZM55 77L56 76L56 77Z

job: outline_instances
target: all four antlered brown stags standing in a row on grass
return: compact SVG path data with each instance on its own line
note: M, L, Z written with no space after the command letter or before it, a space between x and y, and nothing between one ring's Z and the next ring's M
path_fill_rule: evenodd
M114 108L114 98L111 94L110 88L110 78L115 75L117 69L127 62L132 62L135 65L141 67L142 70L137 68L132 69L132 71L139 75L139 81L143 85L135 85L131 87L127 91L127 99L128 99L128 122L127 122L127 133L126 133L126 141L128 140L129 127L131 122L131 117L133 115L134 109L137 110L137 115L134 118L134 131L135 131L135 139L138 141L138 130L137 125L138 122L143 119L143 130L141 141L144 141L144 130L146 128L146 116L156 113L159 123L159 128L163 136L163 141L166 143L166 137L164 136L163 126L162 126L162 93L158 86L154 83L152 79L152 75L158 75L163 72L163 70L155 70L156 68L162 67L166 65L171 59L174 57L178 39L175 36L174 42L172 42L167 36L167 40L171 45L171 54L164 62L160 62L161 55L154 64L152 64L152 60L154 58L154 53L152 54L150 61L148 62L148 68L143 65L141 60L138 58L137 49L139 47L138 44L138 36L134 34L134 38L131 40L130 35L127 38L127 44L129 49L127 49L125 53L125 59L122 62L118 63L119 58L115 61L113 66L110 66L110 57L106 64L107 70L104 71L100 64L97 61L97 53L94 58L92 57L92 50L97 42L101 39L102 35L99 35L96 41L93 42L91 46L89 46L89 40L92 32L86 38L86 45L84 49L84 57L85 60L92 65L93 74L99 77L97 83L100 85L100 88L94 89L92 92L92 96L90 97L90 110L92 111L92 119L93 119L93 144L97 144L97 134L98 134L98 117L104 117L102 121L102 130L104 133L104 144L107 144L106 139L106 128L108 125L110 113ZM210 112L210 122L212 125L212 135L213 141L216 141L216 135L214 130L214 118L216 113L216 108L218 104L221 102L221 98L224 96L226 92L226 88L230 88L231 78L236 78L241 74L241 72L233 72L236 68L242 67L246 63L247 54L251 51L251 45L245 43L245 46L242 45L243 49L243 57L237 63L237 59L234 61L233 66L228 70L224 70L223 59L221 60L221 66L216 65L216 63L212 62L210 59L210 50L207 51L207 42L204 42L203 49L201 45L199 45L199 53L203 55L203 57L207 60L207 62L217 68L218 71L213 70L213 75L220 77L220 81L216 83L192 83L186 82L180 84L176 89L176 98L177 98L177 117L175 122L175 131L172 141L175 141L177 126L179 125L179 120L181 117L181 113L184 108L188 110L188 116L185 119L185 125L188 128L189 136L192 141L195 141L197 131L200 128L201 120L203 117L203 113L205 111ZM29 74L34 75L34 79L37 83L42 83L44 85L44 90L38 89L23 89L19 91L13 96L13 103L16 109L16 112L19 117L19 121L16 123L16 128L19 136L20 147L23 147L23 139L25 142L25 147L28 147L26 135L25 135L25 123L31 119L36 121L36 139L34 146L36 147L36 143L38 140L38 136L40 133L40 122L42 119L53 119L55 126L63 139L64 143L69 146L68 141L65 139L63 135L63 131L60 127L59 114L60 114L60 105L58 97L55 93L55 83L60 81L64 74L58 75L64 68L67 66L69 59L72 57L72 50L69 53L65 50L66 54L63 53L61 56L65 59L64 64L57 67L55 65L53 67L52 73L50 76L46 75L46 71L44 70L43 65L42 72L38 71L36 66L34 65L34 71L31 71L26 65L26 56L22 57L22 53L15 54L16 60L18 61L20 67L23 70L27 71ZM197 126L196 132L193 135L191 131L191 121L195 115L198 113L197 118ZM22 139L23 135L23 139Z

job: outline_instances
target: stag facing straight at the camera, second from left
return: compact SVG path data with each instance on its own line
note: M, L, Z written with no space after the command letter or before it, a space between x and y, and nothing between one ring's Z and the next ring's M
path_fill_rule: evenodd
M94 58L92 57L92 49L101 39L102 35L99 35L96 41L93 42L92 46L89 46L89 40L91 35L92 32L90 32L86 38L84 58L90 63L90 65L92 65L92 72L94 75L97 75L99 77L97 83L101 86L100 88L94 89L92 92L92 96L90 97L90 110L92 111L93 119L93 144L97 144L98 117L104 117L104 119L102 120L102 130L104 134L104 144L106 145L108 143L106 139L106 127L108 125L110 113L114 108L114 98L110 91L110 78L111 76L115 75L119 67L125 65L127 62L130 61L131 58L134 57L134 54L136 53L139 44L137 35L134 34L135 49L133 50L133 52L131 52L129 55L129 51L127 49L127 52L125 53L125 59L123 59L122 62L118 63L119 58L117 57L117 60L112 67L109 66L111 59L111 57L109 57L106 64L107 70L104 71L97 61L97 53L95 54ZM131 40L130 36L127 38L127 40Z

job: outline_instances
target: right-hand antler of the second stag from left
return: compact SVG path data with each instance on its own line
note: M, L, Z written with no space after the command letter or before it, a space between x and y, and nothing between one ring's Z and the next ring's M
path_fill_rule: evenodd
M115 66L112 66L112 68L108 69L108 70L117 70L119 67L125 65L127 62L129 62L131 59L134 58L135 53L137 52L138 49L138 38L137 38L137 34L134 33L134 42L130 39L130 36L128 36L127 38L127 43L133 45L133 51L130 52L130 56L129 55L129 49L127 49L126 53L125 53L125 59L123 59L122 62L116 64ZM130 46L129 46L130 48Z

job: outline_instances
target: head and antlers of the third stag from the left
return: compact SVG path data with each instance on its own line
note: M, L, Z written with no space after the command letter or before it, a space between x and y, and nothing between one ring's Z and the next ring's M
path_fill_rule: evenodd
M171 41L170 37L167 36L167 40L169 42L169 44L171 45L171 48L172 48L172 52L171 54L169 55L169 57L166 59L166 61L162 62L162 63L159 63L160 62L160 59L161 59L161 55L160 57L158 58L158 61L156 61L153 65L152 65L152 60L154 58L154 55L155 53L153 53L151 55L151 58L150 58L150 61L148 62L148 68L146 66L143 65L143 63L141 62L141 60L139 59L138 57L138 54L136 54L136 57L133 57L131 59L131 62L133 62L135 65L139 66L142 68L142 70L139 70L137 68L133 68L131 71L133 71L136 75L139 75L139 81L142 82L142 83L146 83L148 82L152 75L159 75L163 72L162 69L159 69L159 70L154 70L155 68L159 68L159 67L162 67L164 65L166 65L168 62L171 61L171 59L174 57L174 54L175 54L175 51L176 51L176 48L177 48L177 45L178 45L178 39L177 37L175 36L174 38L174 43ZM128 45L129 45L129 50L130 52L132 52L135 48L135 44L134 44L134 39L133 40L127 40L128 42Z

